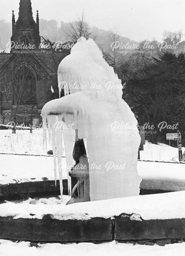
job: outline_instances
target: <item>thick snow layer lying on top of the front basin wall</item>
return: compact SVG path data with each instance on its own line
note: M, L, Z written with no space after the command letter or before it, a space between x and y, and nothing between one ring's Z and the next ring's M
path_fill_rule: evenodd
M59 198L31 199L8 202L0 205L0 216L42 219L50 214L58 220L88 220L94 217L113 218L120 214L131 215L131 220L185 218L185 191L144 196L113 198L66 205L69 196ZM31 214L31 215L30 215ZM124 217L124 216L123 216Z

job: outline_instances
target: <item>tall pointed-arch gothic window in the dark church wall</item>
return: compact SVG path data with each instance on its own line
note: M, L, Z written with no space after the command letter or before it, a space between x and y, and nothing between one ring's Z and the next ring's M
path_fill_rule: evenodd
M13 101L14 104L36 103L35 75L33 71L23 63L20 65L13 76Z

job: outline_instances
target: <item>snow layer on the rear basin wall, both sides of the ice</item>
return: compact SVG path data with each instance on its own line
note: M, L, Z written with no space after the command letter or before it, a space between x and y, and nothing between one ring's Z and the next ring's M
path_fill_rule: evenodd
M52 156L24 156L0 154L0 184L54 180ZM66 160L62 157L63 179L67 179ZM159 163L138 161L138 174L142 189L185 190L185 163ZM58 178L58 172L57 172Z

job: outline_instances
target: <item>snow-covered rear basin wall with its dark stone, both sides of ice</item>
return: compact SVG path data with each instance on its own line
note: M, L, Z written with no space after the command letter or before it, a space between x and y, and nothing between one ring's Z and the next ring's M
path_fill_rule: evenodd
M13 198L20 198L22 194L32 196L34 193L43 192L56 192L56 195L59 195L59 181L55 187L52 156L47 157L46 161L44 156L1 154L0 159L2 163L1 199L12 200ZM62 163L63 186L67 192L65 157L62 158ZM23 166L27 166L26 169ZM185 163L138 161L137 169L142 177L140 194L185 190L184 168Z

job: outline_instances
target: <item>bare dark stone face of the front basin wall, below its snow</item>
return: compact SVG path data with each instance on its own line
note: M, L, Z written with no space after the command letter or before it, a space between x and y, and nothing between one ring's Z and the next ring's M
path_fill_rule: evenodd
M123 217L124 216L124 217ZM114 218L57 220L51 215L42 219L1 217L1 238L34 242L70 241L140 241L150 244L185 238L185 219L131 220L124 214Z

